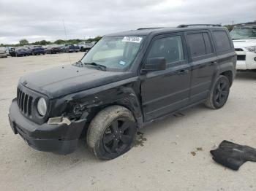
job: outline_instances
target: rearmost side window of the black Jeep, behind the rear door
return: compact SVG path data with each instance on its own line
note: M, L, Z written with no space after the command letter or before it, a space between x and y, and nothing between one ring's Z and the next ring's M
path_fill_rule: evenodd
M225 52L231 49L230 39L226 31L214 31L214 39L217 44L217 52Z

